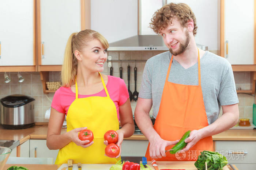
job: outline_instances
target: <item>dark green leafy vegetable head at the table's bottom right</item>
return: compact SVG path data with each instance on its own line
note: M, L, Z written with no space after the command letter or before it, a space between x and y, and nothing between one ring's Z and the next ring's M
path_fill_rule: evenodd
M199 170L205 170L205 162L208 170L222 170L228 163L227 158L217 152L202 151L194 165Z

